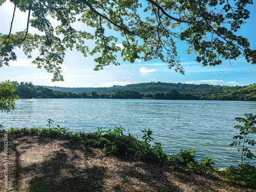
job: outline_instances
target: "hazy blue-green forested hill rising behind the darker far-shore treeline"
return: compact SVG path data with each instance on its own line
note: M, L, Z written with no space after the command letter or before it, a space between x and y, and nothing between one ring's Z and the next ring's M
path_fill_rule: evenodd
M254 85L253 85L254 86ZM210 84L186 84L186 83L167 83L167 82L145 82L137 84L127 84L126 86L113 86L109 88L62 88L41 86L52 90L72 93L91 93L92 91L98 94L115 93L117 91L137 91L140 94L166 93L169 90L176 90L181 94L189 93L196 96L209 95L225 95L231 94L234 91L245 89L249 86L213 86ZM256 89L256 86L255 86Z

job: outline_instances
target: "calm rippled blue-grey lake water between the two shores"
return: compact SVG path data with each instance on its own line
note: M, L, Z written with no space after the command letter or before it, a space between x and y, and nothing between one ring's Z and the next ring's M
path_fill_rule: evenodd
M9 127L46 126L51 118L63 127L95 132L97 127L126 131L142 136L150 128L155 142L164 151L176 154L181 148L197 151L197 158L211 157L216 167L240 160L237 149L230 147L239 132L235 117L256 114L253 101L140 100L140 99L24 99L16 110L0 114L0 124ZM256 147L254 147L256 148ZM252 152L256 153L253 147ZM255 160L251 164L256 165Z

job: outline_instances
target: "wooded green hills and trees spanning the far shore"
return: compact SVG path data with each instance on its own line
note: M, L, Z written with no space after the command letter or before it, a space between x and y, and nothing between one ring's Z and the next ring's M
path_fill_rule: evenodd
M256 84L249 86L213 86L148 82L110 88L61 88L34 86L31 82L13 81L20 98L116 98L116 99L184 99L255 101Z

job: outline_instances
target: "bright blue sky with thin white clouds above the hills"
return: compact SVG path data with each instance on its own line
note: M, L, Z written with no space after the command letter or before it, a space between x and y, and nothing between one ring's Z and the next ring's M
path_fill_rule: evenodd
M8 33L13 12L13 4L7 2L0 7L0 33ZM256 49L256 5L248 7L250 18L239 31L240 35L248 38L251 49ZM14 31L23 31L26 29L27 13L16 12L14 19ZM53 21L55 23L55 21ZM86 29L84 24L75 24L78 29ZM30 28L30 33L37 32ZM90 29L89 29L90 30ZM88 42L93 46L93 42ZM119 44L121 41L119 42ZM237 60L223 61L223 65L216 67L202 67L195 61L196 55L183 53L184 43L178 43L180 48L181 65L184 67L185 75L176 73L174 69L168 69L166 63L160 60L144 62L136 60L134 64L123 62L122 58L118 60L121 66L110 65L104 70L93 71L96 63L95 56L83 57L77 51L68 51L64 65L62 65L63 77L65 81L51 82L52 74L44 69L36 68L20 50L17 50L17 61L11 61L10 66L0 68L0 81L24 81L32 82L35 85L60 86L60 87L111 87L113 85L125 85L140 82L173 82L173 83L208 83L228 86L245 86L256 82L256 66L247 63L244 58ZM184 48L185 50L185 48ZM36 51L33 54L36 56Z

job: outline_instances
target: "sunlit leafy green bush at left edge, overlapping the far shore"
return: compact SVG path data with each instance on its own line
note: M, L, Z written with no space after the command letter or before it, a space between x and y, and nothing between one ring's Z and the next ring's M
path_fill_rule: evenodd
M15 101L18 100L18 96L14 95L13 92L16 87L10 81L0 84L0 111L9 112L15 109Z

